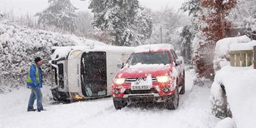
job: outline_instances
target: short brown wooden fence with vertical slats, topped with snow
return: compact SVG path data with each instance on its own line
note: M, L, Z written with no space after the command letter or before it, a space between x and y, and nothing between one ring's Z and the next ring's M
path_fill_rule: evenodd
M248 51L230 51L231 66L250 67L253 63L254 68L256 69L256 46L253 47L253 50Z

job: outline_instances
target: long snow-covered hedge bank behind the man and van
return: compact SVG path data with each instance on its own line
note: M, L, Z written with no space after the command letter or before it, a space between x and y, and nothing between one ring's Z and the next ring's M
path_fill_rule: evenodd
M74 35L29 29L6 19L0 19L0 85L17 80L26 83L26 74L36 56L43 59L44 76L49 77L52 46L104 45ZM46 79L47 79L46 77ZM3 87L2 86L2 87ZM4 87L0 87L3 92Z

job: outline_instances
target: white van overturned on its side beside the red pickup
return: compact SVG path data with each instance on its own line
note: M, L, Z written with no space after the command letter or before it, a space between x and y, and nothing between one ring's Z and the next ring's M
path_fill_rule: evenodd
M111 45L52 47L54 100L82 100L112 95L116 65L127 61L134 47Z

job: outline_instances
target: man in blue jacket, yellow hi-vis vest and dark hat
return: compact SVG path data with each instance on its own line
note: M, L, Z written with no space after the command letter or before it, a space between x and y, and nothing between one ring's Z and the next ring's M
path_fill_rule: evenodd
M34 109L34 101L36 99L36 104L37 104L37 111L42 111L44 110L43 105L42 105L42 71L40 66L42 65L42 59L37 57L35 58L35 61L32 63L30 70L29 70L29 75L28 75L28 82L27 86L31 88L31 94L29 97L29 102L28 102L28 111L36 111Z

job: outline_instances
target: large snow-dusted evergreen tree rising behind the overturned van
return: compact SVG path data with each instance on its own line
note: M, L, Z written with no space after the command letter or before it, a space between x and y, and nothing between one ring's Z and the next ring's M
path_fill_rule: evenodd
M137 0L92 0L92 25L107 31L113 45L138 45L149 38L152 20Z

